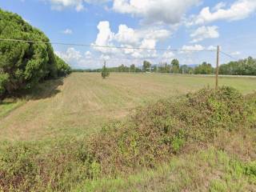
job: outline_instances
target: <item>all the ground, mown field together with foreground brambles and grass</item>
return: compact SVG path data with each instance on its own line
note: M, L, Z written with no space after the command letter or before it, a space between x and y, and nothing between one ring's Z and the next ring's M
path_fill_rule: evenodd
M0 190L254 191L255 81L220 78L250 97L211 76L43 82L0 105Z

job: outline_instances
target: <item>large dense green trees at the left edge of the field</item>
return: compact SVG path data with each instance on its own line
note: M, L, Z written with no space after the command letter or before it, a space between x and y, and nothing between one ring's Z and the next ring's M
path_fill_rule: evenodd
M18 14L0 9L0 38L50 42L42 31L30 26ZM70 74L70 66L54 54L50 44L0 43L0 101L7 94L28 89L49 78Z

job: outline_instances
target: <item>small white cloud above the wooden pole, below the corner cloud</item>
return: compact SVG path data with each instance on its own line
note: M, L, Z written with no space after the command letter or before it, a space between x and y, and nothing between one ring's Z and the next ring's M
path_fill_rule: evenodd
M218 26L201 26L197 30L194 30L190 37L193 38L191 41L194 42L201 42L206 38L218 38Z

